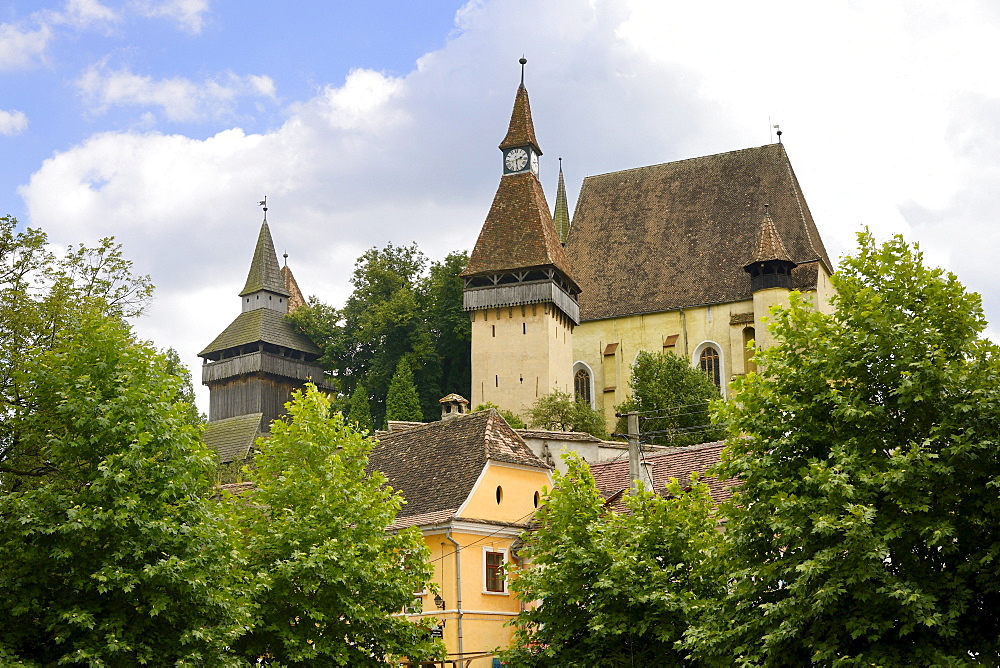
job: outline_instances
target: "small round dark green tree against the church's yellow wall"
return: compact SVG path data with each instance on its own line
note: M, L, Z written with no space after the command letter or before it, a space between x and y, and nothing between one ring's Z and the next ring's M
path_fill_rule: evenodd
M643 440L659 445L694 445L726 437L711 424L711 403L719 389L700 369L670 353L640 352L632 364L632 396L618 413L639 412ZM626 432L624 418L618 431Z

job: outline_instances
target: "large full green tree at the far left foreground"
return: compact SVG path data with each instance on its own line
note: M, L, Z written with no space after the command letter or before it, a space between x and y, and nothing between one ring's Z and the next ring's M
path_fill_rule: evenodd
M0 657L235 665L241 564L181 381L100 300L61 310L8 376L22 402L3 422Z

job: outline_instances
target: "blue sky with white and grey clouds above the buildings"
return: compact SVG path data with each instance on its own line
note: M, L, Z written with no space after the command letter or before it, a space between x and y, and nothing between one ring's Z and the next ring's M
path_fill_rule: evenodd
M334 304L368 247L471 248L522 54L550 204L558 157L572 210L587 175L779 124L832 256L902 233L1000 321L990 0L0 0L0 213L115 236L157 286L140 332L197 378L264 195Z

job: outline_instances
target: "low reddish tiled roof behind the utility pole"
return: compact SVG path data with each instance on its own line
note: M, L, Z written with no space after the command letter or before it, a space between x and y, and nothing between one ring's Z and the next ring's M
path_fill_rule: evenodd
M671 478L677 478L683 487L692 471L704 474L711 466L718 463L724 446L724 441L716 441L665 452L644 453L643 461L652 465L653 487L659 492ZM614 497L631 485L627 459L591 464L590 471L594 474L597 488L601 490L601 496L605 499ZM712 498L716 502L728 499L731 494L730 489L737 484L732 480L722 482L717 478L704 476L702 480L708 484Z

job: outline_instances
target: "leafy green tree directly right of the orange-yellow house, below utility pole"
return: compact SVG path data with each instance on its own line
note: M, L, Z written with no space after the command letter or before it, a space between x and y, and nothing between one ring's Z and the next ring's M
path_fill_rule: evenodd
M522 600L511 666L686 666L677 647L700 602L718 595L721 541L708 488L642 490L605 507L590 467L567 458L525 534L533 567L512 578ZM662 490L661 490L662 491Z

